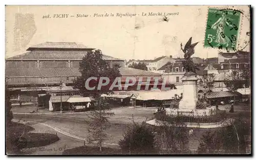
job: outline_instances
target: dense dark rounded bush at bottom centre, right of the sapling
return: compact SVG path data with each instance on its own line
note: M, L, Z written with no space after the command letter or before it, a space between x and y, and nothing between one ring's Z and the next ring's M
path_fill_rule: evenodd
M125 153L154 154L157 153L154 138L152 129L146 126L145 121L141 124L133 121L118 144Z

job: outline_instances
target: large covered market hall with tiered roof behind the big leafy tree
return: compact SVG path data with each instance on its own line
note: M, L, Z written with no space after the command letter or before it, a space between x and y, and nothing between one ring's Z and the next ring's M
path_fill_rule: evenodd
M72 84L80 76L79 63L93 49L72 42L45 42L29 47L25 54L6 59L8 87L49 87L60 81ZM103 55L103 60L125 66L125 60L111 56Z

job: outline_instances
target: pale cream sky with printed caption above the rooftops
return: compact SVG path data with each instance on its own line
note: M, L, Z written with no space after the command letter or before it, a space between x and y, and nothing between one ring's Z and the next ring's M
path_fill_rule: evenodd
M101 49L105 55L125 60L183 57L180 43L184 46L190 37L193 37L193 43L199 42L195 47L194 57L218 57L221 50L204 47L208 7L7 6L6 58L24 54L28 47L46 41L82 43ZM249 36L246 36L246 32L250 32L249 7L218 8L232 8L243 12L237 49L243 48L245 41L249 40ZM149 16L148 13L151 12L162 15ZM125 13L136 13L136 16L117 16ZM145 13L147 16L144 16ZM168 21L163 21L164 13L173 15L167 15ZM61 14L60 17L62 14L68 15L55 18L56 14ZM88 17L76 17L77 14ZM96 16L101 14L109 16ZM48 15L51 18L43 18ZM249 51L249 45L243 50Z

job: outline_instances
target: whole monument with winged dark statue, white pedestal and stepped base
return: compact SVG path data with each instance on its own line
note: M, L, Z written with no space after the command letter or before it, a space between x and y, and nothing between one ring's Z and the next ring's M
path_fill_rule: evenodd
M195 46L198 44L191 44L192 37L189 38L184 49L184 61L182 61L183 67L185 68L185 74L182 78L183 83L183 97L179 102L178 109L166 109L166 114L169 115L184 115L184 116L209 116L216 114L216 106L211 106L205 98L198 96L197 87L197 73L196 70L199 68L194 64L191 56L195 53Z

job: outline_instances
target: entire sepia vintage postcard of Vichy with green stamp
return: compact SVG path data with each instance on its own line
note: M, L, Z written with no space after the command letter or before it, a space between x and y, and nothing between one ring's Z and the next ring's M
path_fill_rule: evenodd
M6 154L251 154L250 6L6 6Z

